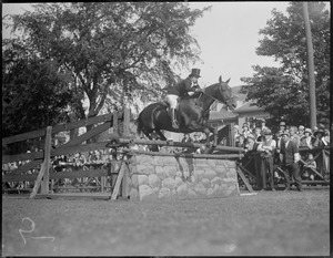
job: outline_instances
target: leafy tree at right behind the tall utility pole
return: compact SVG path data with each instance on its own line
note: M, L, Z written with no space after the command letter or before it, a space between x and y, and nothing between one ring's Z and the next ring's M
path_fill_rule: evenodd
M329 121L330 113L330 24L331 18L323 2L309 2L314 45L315 86L319 121ZM273 18L260 30L263 39L259 55L274 56L281 66L253 66L254 76L243 78L242 89L248 99L272 114L272 125L281 118L289 124L309 126L310 97L306 66L306 42L302 2L291 2L287 16L272 11Z

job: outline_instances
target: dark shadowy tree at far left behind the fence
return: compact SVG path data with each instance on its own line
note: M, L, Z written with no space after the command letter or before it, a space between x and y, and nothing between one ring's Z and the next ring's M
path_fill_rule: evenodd
M2 51L2 137L65 122L71 102L67 76L56 62L30 55L4 40ZM11 145L10 152L27 145ZM26 149L27 151L27 149Z

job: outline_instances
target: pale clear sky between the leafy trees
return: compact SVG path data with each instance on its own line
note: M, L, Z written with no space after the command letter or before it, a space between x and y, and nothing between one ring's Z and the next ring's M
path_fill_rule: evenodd
M226 81L231 78L230 86L243 83L241 78L252 76L252 65L278 66L271 56L259 56L255 49L259 47L259 30L266 27L266 21L272 18L271 11L285 13L287 2L190 2L190 7L202 8L212 6L199 18L191 29L191 34L198 40L201 48L202 63L189 64L190 68L201 70L200 85L205 86L216 83L219 76ZM4 14L23 13L32 10L30 3L2 3ZM2 37L10 33L2 27ZM189 75L183 70L179 75L184 79Z

